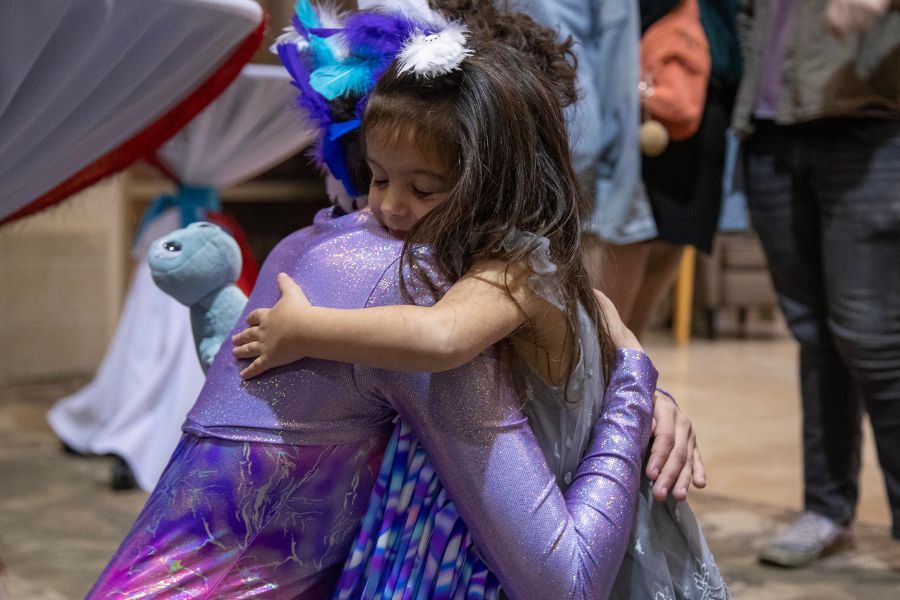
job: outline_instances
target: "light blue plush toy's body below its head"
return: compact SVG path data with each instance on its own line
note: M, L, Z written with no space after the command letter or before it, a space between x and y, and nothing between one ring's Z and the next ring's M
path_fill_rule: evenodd
M209 369L246 305L247 296L244 292L236 285L229 284L211 294L209 302L201 301L191 307L194 344L204 373Z

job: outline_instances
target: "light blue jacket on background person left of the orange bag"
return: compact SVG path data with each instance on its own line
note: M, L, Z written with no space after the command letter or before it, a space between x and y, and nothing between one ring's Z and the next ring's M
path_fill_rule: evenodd
M581 99L566 117L573 163L594 188L587 229L616 244L656 237L638 146L638 3L519 0L518 8L576 42Z

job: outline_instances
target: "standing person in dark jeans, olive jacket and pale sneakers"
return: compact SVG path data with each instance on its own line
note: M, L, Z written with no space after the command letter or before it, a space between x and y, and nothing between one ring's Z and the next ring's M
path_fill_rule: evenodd
M863 406L900 539L900 2L743 8L734 126L803 401L804 512L760 559L797 567L852 542Z

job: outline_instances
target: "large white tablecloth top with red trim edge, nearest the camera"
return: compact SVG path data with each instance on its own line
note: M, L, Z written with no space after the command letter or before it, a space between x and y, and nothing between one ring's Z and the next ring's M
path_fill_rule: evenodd
M261 22L252 0L0 2L0 220L168 116Z

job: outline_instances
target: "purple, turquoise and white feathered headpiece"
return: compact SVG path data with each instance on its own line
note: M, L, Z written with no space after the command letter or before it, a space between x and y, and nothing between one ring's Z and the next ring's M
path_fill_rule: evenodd
M360 191L353 185L341 137L359 128L367 95L375 82L400 57L400 72L430 78L449 73L471 50L467 30L449 23L427 0L360 0L359 12L341 13L333 5L298 0L291 27L272 50L300 91L297 105L321 132L313 147L316 164L338 180L329 181L329 194L344 210L360 208ZM356 115L337 121L332 101L356 99Z

